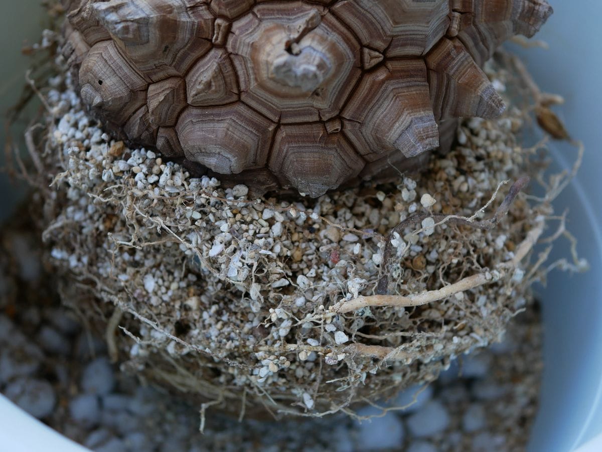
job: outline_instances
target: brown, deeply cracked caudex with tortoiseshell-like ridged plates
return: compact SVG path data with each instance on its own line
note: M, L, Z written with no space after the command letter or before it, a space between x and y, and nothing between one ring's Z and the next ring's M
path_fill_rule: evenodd
M449 144L454 118L498 116L480 66L552 12L545 0L64 6L63 55L107 128L197 169L314 197L415 167Z

